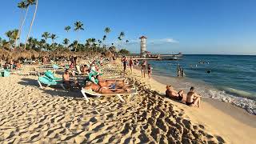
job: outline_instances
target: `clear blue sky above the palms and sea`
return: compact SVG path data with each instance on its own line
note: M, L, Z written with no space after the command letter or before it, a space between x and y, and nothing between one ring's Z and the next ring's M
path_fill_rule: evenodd
M0 37L21 22L20 0L2 0ZM22 32L22 42L33 17L30 7ZM109 26L106 43L117 43L125 32L122 46L139 53L139 37L147 37L147 50L156 54L256 54L256 1L254 0L38 0L38 13L31 36L42 38L43 32L74 41L74 22L81 21L86 38L102 38ZM49 40L50 42L50 40Z

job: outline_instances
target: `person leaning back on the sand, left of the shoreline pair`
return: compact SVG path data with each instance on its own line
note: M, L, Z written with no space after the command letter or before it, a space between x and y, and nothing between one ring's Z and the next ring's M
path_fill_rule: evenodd
M175 100L182 101L183 98L186 98L186 94L184 94L184 90L180 90L179 92L174 90L173 86L166 86L166 96L170 98L174 98Z

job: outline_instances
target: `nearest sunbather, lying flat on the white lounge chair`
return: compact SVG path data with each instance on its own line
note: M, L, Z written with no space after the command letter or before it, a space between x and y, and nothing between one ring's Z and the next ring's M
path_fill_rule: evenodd
M86 90L93 90L95 93L99 94L125 94L129 93L130 89L109 89L107 87L101 87L95 84L94 82L86 82L84 87Z

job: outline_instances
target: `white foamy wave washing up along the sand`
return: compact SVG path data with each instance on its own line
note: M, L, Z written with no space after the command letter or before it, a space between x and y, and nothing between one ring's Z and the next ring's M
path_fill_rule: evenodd
M256 101L255 99L253 99L255 97L254 94L248 93L243 90L232 89L229 87L224 88L225 90L218 90L214 86L210 86L205 82L190 78L168 78L162 76L160 77L158 77L159 82L168 82L172 84L177 90L188 91L190 89L190 86L194 86L198 94L201 94L203 97L214 98L221 102L230 102L235 106L247 110L250 114L256 115Z

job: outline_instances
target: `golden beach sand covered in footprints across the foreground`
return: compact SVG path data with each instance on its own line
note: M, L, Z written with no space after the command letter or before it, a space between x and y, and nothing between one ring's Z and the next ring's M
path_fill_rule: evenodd
M0 78L0 143L254 142L255 116L210 99L202 109L174 102L162 96L165 84L135 72L138 95L126 102L87 103L79 90L39 89L36 76Z

